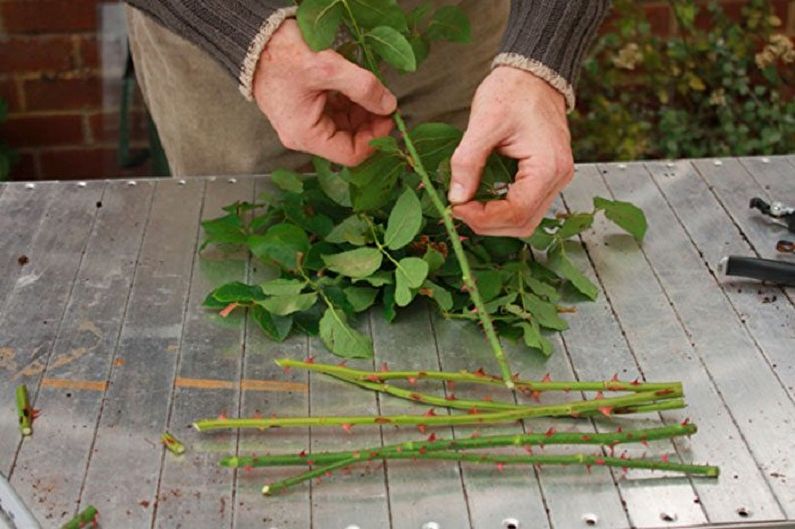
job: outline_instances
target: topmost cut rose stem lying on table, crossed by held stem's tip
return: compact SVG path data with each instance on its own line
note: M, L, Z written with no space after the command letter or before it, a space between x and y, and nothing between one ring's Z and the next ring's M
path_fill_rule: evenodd
M418 381L422 379L428 379L457 383L471 382L475 384L487 384L491 386L503 385L501 378L495 375L484 373L482 371L363 371L361 369L353 369L346 366L303 362L300 360L291 360L289 358L281 358L276 360L276 364L285 369L308 369L310 371L325 373L330 376L337 376L352 380L363 380L368 382L386 382L388 380ZM533 382L529 380L515 379L514 384L518 390L538 391L539 393L543 393L545 391L629 391L633 393L640 393L644 391L657 391L661 389L682 389L681 382L624 382L621 380L605 380L596 382Z

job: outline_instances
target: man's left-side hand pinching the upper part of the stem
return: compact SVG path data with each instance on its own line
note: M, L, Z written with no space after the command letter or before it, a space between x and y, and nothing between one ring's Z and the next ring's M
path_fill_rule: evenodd
M357 165L370 140L392 130L395 96L367 70L332 50L312 51L285 21L260 56L254 99L288 149Z

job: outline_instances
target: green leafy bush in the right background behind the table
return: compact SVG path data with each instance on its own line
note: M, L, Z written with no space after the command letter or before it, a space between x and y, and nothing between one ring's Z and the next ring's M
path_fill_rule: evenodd
M739 21L716 2L670 4L677 29L660 37L638 2L614 2L618 19L586 60L577 91L577 160L795 151L795 50L777 33L769 2L752 0Z

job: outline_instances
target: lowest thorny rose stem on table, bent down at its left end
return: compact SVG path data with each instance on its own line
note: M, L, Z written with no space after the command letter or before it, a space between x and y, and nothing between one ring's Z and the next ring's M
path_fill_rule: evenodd
M326 466L314 468L303 474L277 481L262 488L265 495L277 494L289 487L293 487L310 479L327 476L335 470L351 466L355 463L371 461L373 459L412 459L412 460L444 460L463 461L467 463L492 464L502 469L504 465L581 465L586 468L592 466L618 467L622 469L638 468L646 470L661 470L667 472L680 472L687 475L701 475L717 478L720 469L711 465L689 465L675 463L667 458L631 459L628 457L603 456L601 454L571 454L571 455L491 455L491 454L462 454L458 452L387 452L373 451L359 454L359 457L342 459Z

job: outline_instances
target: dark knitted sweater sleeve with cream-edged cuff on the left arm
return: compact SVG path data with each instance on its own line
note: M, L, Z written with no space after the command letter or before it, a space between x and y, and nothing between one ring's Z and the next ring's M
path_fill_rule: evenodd
M127 0L196 44L238 80L252 99L257 61L271 35L296 7L291 0Z

